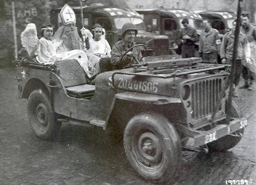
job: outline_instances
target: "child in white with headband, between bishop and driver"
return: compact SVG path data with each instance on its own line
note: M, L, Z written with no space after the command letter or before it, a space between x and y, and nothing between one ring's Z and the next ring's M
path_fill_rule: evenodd
M93 26L93 35L94 39L90 39L90 49L88 52L100 57L100 58L109 58L111 57L111 48L108 44L108 41L102 38L103 28L100 24L94 24Z

